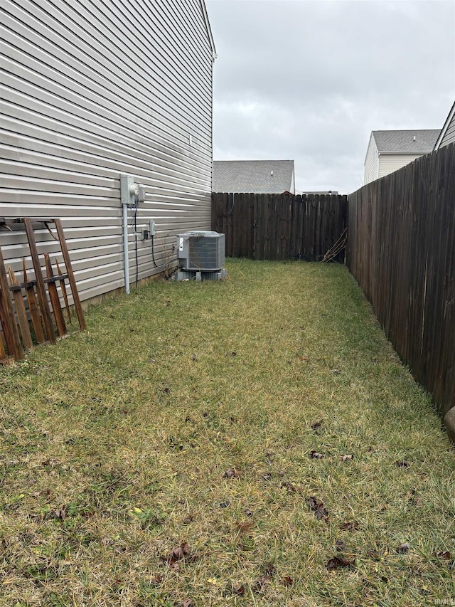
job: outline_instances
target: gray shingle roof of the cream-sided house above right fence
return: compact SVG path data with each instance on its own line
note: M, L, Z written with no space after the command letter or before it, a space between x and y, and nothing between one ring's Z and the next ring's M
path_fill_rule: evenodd
M429 154L433 151L440 132L440 129L373 131L373 137L381 154Z

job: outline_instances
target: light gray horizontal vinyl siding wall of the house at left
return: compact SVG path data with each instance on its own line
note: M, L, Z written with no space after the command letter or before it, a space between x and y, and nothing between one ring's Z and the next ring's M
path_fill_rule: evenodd
M62 219L82 300L124 285L120 174L144 184L137 231L156 221L156 263L175 258L177 233L210 230L213 48L200 0L2 9L0 216ZM36 237L55 259L57 243ZM131 282L134 243L129 228ZM0 246L21 270L25 233L1 231ZM138 258L139 279L162 270L150 241Z

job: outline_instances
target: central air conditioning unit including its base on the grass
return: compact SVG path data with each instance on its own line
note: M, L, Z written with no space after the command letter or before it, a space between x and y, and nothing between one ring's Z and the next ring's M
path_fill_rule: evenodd
M191 231L177 236L177 257L181 272L177 280L220 280L225 278L225 235Z

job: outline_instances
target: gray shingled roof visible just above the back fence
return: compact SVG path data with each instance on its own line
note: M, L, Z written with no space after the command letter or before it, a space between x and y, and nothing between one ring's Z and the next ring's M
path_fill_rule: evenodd
M215 160L213 191L294 193L294 160Z

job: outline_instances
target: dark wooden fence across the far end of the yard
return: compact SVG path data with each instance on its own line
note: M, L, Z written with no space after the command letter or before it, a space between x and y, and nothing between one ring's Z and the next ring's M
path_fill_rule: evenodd
M347 198L213 193L212 229L225 234L230 257L321 260L343 239ZM344 250L333 259L343 263Z

